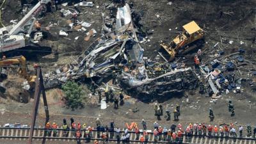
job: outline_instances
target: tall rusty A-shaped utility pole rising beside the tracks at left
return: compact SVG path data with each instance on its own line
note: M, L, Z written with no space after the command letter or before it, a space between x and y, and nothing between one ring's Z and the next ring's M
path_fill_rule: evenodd
M34 106L33 106L33 116L32 116L32 122L31 122L31 128L30 128L30 134L29 134L29 144L32 143L32 138L33 138L33 132L34 132L34 127L35 127L35 122L36 122L36 115L38 112L38 105L39 105L39 100L40 100L40 95L42 92L43 95L43 100L44 100L44 109L45 109L45 124L49 121L49 110L48 110L48 105L47 105L47 100L46 100L46 95L45 95L45 89L44 89L44 79L42 75L42 70L40 67L36 68L36 81L35 81L35 94L34 94Z

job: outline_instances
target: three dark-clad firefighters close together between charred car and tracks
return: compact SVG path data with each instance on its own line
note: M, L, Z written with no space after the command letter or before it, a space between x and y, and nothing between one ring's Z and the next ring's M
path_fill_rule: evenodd
M157 116L157 120L161 120L161 116L163 116L162 104L157 104L157 102L155 102L154 110L155 110L155 116ZM170 106L168 104L166 105L165 113L167 115L166 121L171 120L171 110L170 110ZM179 120L179 116L180 116L179 104L176 104L176 108L173 110L173 116L174 116L174 121Z

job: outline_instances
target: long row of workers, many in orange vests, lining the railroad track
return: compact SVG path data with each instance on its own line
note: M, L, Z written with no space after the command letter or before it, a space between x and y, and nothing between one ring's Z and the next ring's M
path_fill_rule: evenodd
M124 132L121 131L119 127L116 127L115 122L110 122L110 127L108 125L104 126L100 122L100 119L96 120L96 130L97 130L97 138L101 138L103 143L108 143L108 139L116 139L118 143L122 141L122 143L129 143L130 141L130 131L133 131L136 134L136 140L140 141L142 144L147 143L148 141L148 131L147 131L147 122L143 119L141 120L141 125L143 129L139 129L137 124L134 124L134 127L127 127ZM152 134L154 135L154 141L169 141L170 143L181 143L182 136L234 136L237 137L236 125L230 123L229 125L207 125L207 124L189 124L188 126L182 127L182 124L172 124L170 125L170 129L168 127L161 127L157 122L153 124L154 131ZM51 131L53 131L53 136L57 136L57 128L58 125L56 123L52 123L52 125L47 122L45 124L45 129L47 129L47 136L51 136ZM70 129L71 128L71 129ZM77 138L77 143L80 143L80 138L82 136L82 131L84 131L84 138L86 138L87 142L90 142L92 138L93 127L86 126L86 124L81 125L79 122L75 123L73 118L70 118L70 128L67 125L67 120L63 119L63 125L61 129L63 129L63 136L67 137L68 132L73 132L73 136ZM239 125L239 137L243 137L243 126ZM176 131L177 129L177 131ZM247 136L255 138L256 134L256 125L252 129L250 124L246 125ZM99 142L97 140L94 141L95 144Z

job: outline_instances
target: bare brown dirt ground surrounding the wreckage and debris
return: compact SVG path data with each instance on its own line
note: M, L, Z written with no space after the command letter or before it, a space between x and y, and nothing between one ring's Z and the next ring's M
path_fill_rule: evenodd
M83 37L84 32L72 31L68 33L66 38L58 37L57 33L61 28L67 27L65 18L60 17L60 12L48 13L47 17L42 19L43 26L49 26L51 24L59 23L59 26L52 27L51 34L56 37L55 40L49 40L52 45L57 45L59 56L58 59L53 59L52 56L45 56L42 61L29 61L29 63L40 63L43 71L51 71L56 67L65 65L70 61L74 61L81 51L86 51L86 47L100 36L101 29L101 12L104 11L104 3L109 2L106 0L93 1L95 6L93 8L83 8L83 15L78 19L84 19L86 22L92 22L92 28L95 28L98 32L97 35L90 39L89 42L85 42ZM237 49L243 48L246 50L244 58L246 60L255 63L255 31L256 31L256 9L254 0L247 1L192 1L192 0L173 0L172 4L167 4L169 1L165 0L134 0L134 10L141 13L141 24L143 29L150 31L148 37L150 42L143 44L145 49L144 56L148 58L154 58L157 55L159 49L159 42L161 40L169 42L173 36L179 34L182 30L182 26L191 20L195 20L202 28L205 29L205 46L203 47L203 61L212 59L214 54L218 51L225 51L225 55L237 52ZM96 8L99 6L99 8ZM6 10L10 7L6 7ZM10 17L7 17L7 13L3 13L2 19L5 24L10 22ZM159 16L157 16L159 15ZM12 15L12 19L15 19L17 15ZM154 31L152 31L154 30ZM74 37L79 36L78 40L74 40ZM230 40L233 40L233 44L228 44ZM241 41L244 42L241 45ZM217 42L220 44L213 47ZM189 57L193 57L194 54L188 54L187 57L189 63ZM58 66L56 66L56 64ZM240 74L236 76L247 77L248 73L255 68L253 65L247 65L240 67ZM171 95L170 99L163 102L163 106L166 104L172 105L172 110L175 104L180 104L180 122L188 124L189 122L205 122L209 123L209 108L214 111L214 121L212 124L223 124L229 122L237 122L239 124L252 124L256 125L256 97L255 92L246 84L242 86L242 93L223 94L220 99L214 102L210 102L210 97L200 95L198 90L193 92L185 92L183 96ZM53 93L53 94L52 94ZM147 104L140 102L136 99L125 100L124 106L120 106L119 109L113 109L113 104L109 104L109 107L105 110L100 109L97 104L88 102L83 109L71 109L65 108L63 101L61 101L60 90L50 90L47 95L52 95L49 98L49 111L51 114L51 122L58 122L61 124L62 118L70 118L73 116L75 120L79 122L86 122L90 125L95 125L95 118L98 116L104 120L104 123L115 120L119 127L124 127L125 122L140 122L142 118L147 120L149 127L152 127L153 122L157 121L154 116L153 104ZM185 97L186 95L186 97ZM132 96L132 95L131 95ZM96 99L97 96L89 97L87 99ZM236 115L230 116L228 112L228 99L231 99L234 103ZM21 104L13 100L6 100L0 98L0 109L4 109L3 115L0 118L0 124L14 123L17 121L23 124L29 124L31 120L31 109L33 106L33 99L27 104ZM8 102L6 102L8 101ZM93 100L92 100L93 101ZM133 113L131 109L138 108L140 111ZM3 111L3 110L2 110ZM38 114L38 124L44 124L44 111L41 109ZM166 122L162 116L162 125L171 125L172 121ZM177 123L177 122L175 122Z

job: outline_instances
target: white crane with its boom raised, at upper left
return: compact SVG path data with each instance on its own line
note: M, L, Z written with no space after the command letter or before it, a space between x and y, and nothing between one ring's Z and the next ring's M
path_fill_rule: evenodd
M39 1L17 24L0 29L0 52L19 49L30 44L30 34L36 23L35 16L50 1Z

